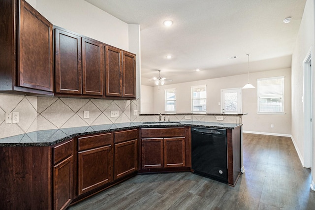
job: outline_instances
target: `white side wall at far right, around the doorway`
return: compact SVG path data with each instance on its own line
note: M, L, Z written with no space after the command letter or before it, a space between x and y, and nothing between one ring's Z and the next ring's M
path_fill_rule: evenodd
M292 137L301 156L304 157L304 112L303 112L303 60L310 49L315 52L315 0L307 0L292 54ZM315 113L315 65L312 58L313 71L313 113ZM313 114L314 115L314 114ZM313 117L314 119L314 117ZM315 130L315 123L313 123ZM315 136L315 132L314 132ZM314 137L313 137L314 138ZM315 146L315 139L313 139ZM315 166L315 148L313 147L313 166ZM302 159L303 161L303 159ZM315 170L312 170L313 182Z

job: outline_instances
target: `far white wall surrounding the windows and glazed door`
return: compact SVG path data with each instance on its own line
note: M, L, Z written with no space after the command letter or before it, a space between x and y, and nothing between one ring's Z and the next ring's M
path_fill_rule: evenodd
M202 72L201 72L202 73ZM257 88L242 90L243 130L252 132L291 134L291 69L276 69L250 74L250 83L257 87L258 78L284 76L284 111L285 115L258 115ZM247 83L247 75L237 75L216 79L201 80L153 88L153 113L164 113L164 90L176 88L176 113L191 112L191 86L207 86L207 113L221 113L221 89L241 88ZM141 100L148 97L141 92ZM144 107L141 107L141 110ZM274 124L274 128L271 128Z

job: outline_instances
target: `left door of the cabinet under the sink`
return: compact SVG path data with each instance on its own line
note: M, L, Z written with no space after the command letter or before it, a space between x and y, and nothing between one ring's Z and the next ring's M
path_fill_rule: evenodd
M142 139L142 169L163 168L163 139Z

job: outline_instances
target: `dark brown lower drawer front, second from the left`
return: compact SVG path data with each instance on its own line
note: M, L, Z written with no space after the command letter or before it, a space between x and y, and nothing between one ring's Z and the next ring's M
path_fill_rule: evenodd
M112 144L112 133L78 137L78 151Z

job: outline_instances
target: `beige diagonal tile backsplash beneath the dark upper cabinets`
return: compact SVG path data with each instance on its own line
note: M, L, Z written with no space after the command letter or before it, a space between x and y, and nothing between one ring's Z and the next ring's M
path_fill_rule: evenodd
M137 100L36 97L0 93L0 138L36 130L137 121ZM89 118L84 118L89 111ZM111 118L110 111L119 111ZM5 113L19 112L19 123L5 124Z

